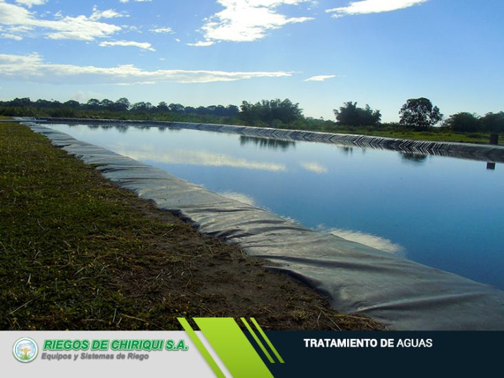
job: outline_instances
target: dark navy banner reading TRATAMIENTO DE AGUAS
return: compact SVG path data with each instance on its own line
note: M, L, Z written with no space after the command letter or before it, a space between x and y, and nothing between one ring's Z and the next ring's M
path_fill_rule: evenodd
M285 361L274 377L502 374L504 332L267 331Z

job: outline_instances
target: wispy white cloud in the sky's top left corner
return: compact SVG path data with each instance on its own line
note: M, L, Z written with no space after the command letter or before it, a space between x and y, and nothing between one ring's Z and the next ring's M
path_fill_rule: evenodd
M35 13L4 0L0 0L0 24L7 25L10 33L14 28L25 32L41 30L47 38L82 41L94 41L121 30L119 26L94 21L82 15L61 16L54 20L38 19Z

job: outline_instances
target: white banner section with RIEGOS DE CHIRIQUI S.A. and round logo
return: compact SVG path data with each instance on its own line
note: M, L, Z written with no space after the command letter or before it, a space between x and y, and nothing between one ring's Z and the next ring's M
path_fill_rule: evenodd
M0 369L1 377L215 376L184 331L1 331Z

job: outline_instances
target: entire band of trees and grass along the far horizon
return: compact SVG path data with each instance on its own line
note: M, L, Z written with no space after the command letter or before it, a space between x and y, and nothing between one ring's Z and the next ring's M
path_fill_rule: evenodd
M36 100L15 98L0 102L0 115L63 118L111 118L118 120L158 120L238 124L277 129L359 133L384 137L459 142L487 142L489 133L504 134L504 112L484 116L462 112L443 119L437 106L428 98L410 98L399 110L398 123L382 123L382 114L369 105L361 108L357 102L344 102L333 110L336 122L303 115L299 104L289 99L243 101L236 105L186 107L182 104L160 102L131 103L127 98L80 103L74 100ZM439 125L439 127L435 127Z

